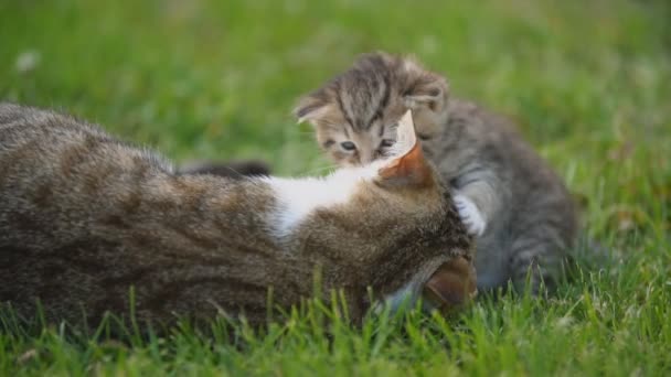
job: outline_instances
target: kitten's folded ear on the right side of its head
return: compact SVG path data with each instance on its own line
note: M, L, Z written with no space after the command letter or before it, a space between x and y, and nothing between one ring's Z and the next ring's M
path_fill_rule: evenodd
M445 77L424 71L413 61L406 61L405 64L405 69L417 74L403 94L406 106L411 109L424 107L435 112L443 111L449 96L449 85Z

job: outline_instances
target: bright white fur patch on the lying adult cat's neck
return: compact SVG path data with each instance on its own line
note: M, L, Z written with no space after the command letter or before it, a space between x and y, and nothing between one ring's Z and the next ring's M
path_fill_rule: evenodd
M341 169L324 177L264 179L275 191L278 204L271 227L278 236L290 234L316 209L347 203L360 184L377 175L377 170L373 164Z

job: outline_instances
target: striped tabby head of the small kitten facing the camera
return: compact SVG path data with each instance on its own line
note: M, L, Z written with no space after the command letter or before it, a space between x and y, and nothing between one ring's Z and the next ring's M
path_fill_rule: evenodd
M393 126L412 109L420 139L432 138L447 119L448 85L409 57L371 53L294 110L309 121L327 154L340 165L364 165L388 155Z

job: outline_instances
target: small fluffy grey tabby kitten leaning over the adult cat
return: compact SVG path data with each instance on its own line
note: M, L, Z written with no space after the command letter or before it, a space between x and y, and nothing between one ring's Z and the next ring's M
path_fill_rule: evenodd
M444 77L411 58L366 54L305 96L294 114L315 126L332 160L355 166L388 154L395 142L390 126L408 109L426 157L478 236L478 287L512 280L520 290L529 277L534 293L542 281L552 288L576 233L564 184L507 120L449 98Z

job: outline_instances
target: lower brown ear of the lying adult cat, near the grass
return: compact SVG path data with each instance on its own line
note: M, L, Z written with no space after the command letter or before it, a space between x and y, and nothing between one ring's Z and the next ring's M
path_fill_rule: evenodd
M424 301L443 313L451 312L471 301L478 293L476 270L464 257L443 263L424 284Z

